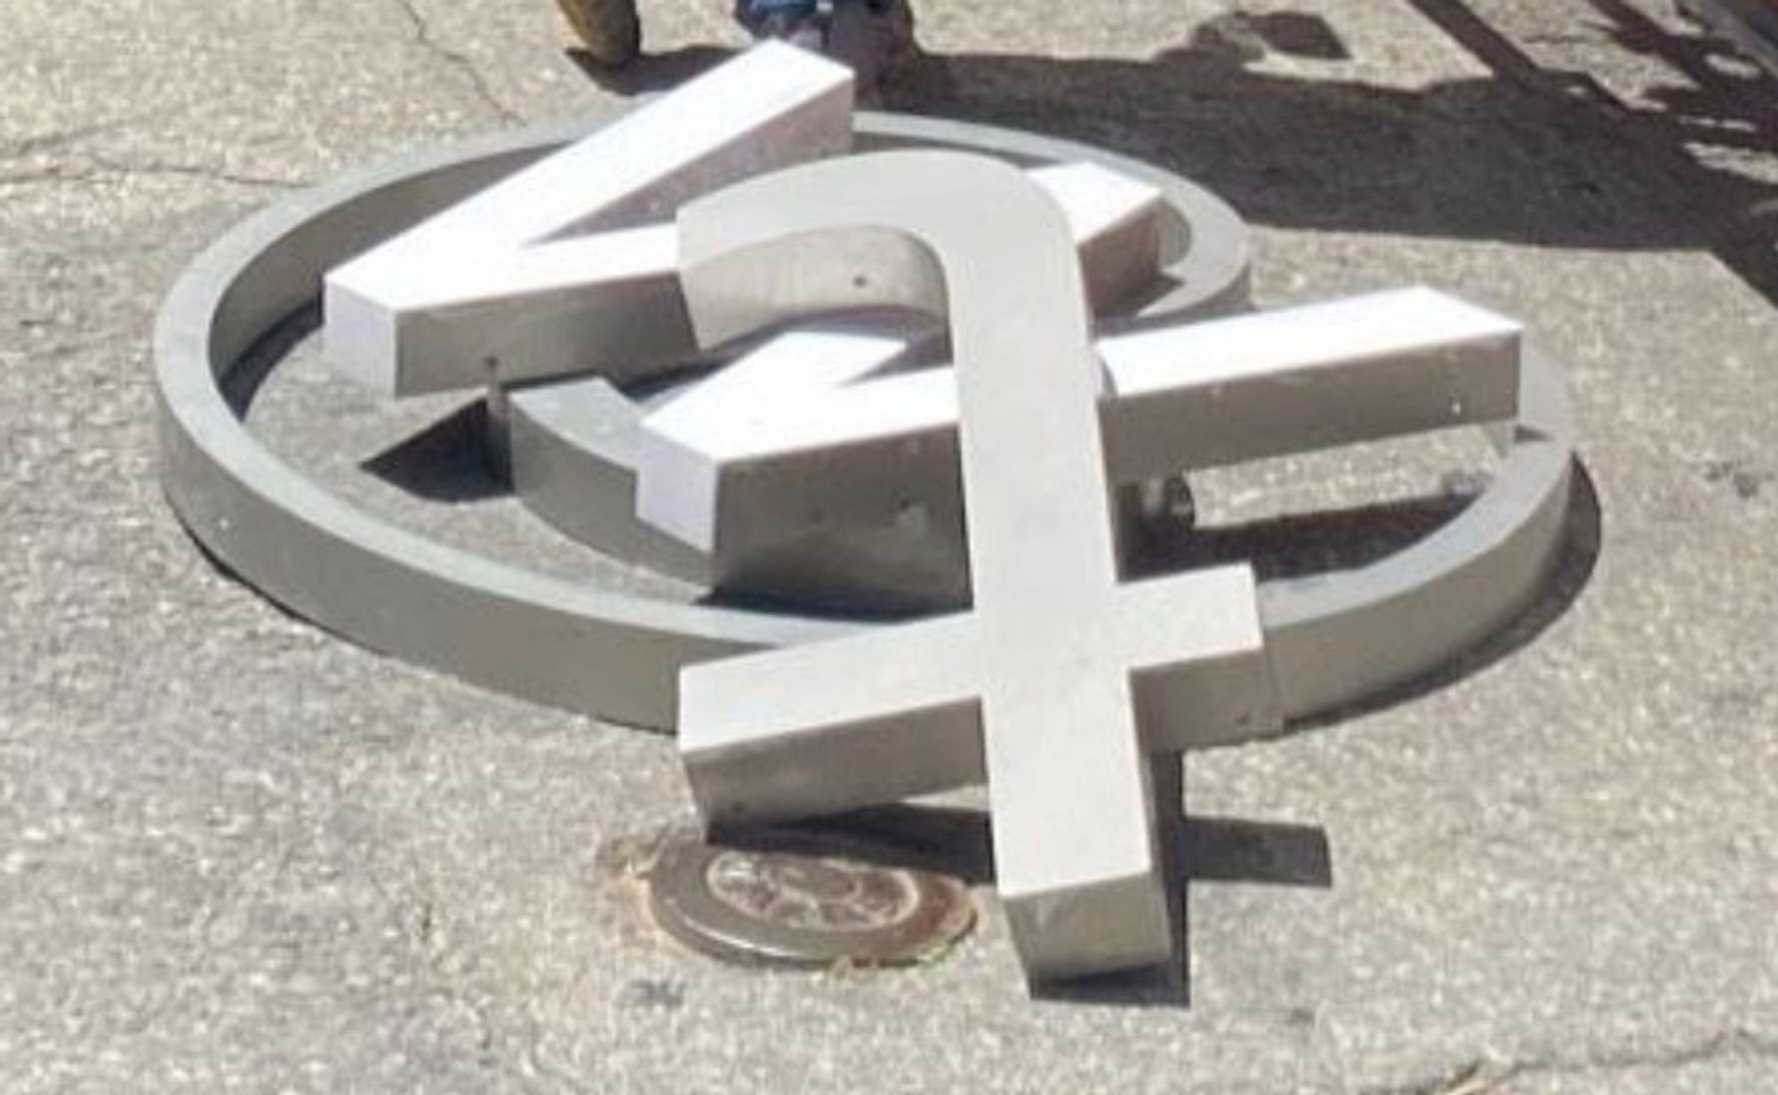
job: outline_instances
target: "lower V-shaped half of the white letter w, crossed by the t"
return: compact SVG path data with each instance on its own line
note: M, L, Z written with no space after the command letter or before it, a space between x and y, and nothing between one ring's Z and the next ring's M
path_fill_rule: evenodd
M1518 324L1424 288L1104 336L1106 473L1136 484L1511 418L1518 340ZM813 510L864 524L955 505L953 372L866 380L905 347L793 332L667 404L642 423L637 514L701 551L749 555ZM1355 391L1369 395L1360 414L1328 412Z

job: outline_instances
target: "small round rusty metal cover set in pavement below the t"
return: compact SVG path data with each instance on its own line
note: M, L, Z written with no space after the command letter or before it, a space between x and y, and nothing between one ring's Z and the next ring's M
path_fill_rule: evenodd
M875 859L805 834L679 839L649 871L649 905L686 946L752 965L909 965L974 924L962 880Z

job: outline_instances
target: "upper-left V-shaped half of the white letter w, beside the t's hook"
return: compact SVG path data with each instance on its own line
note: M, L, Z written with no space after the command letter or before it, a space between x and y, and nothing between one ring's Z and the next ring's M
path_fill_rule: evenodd
M850 146L852 71L763 44L329 272L327 354L388 395L685 359L674 208Z

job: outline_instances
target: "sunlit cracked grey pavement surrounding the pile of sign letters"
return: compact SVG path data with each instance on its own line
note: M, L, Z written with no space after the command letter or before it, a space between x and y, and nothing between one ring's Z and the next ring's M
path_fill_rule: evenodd
M281 190L612 107L738 44L727 4L644 0L601 85L548 0L7 0L0 1091L1778 1086L1774 85L1659 0L916 7L887 105L1205 181L1264 300L1526 318L1597 565L1506 658L1189 763L1246 827L1200 848L1189 1008L1028 1001L989 891L912 972L715 965L613 851L690 821L670 741L231 583L158 494L148 338ZM1305 830L1332 885L1277 883Z

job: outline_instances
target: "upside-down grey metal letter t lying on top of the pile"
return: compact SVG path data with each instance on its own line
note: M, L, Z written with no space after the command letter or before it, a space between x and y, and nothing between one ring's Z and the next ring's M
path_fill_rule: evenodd
M699 809L786 818L985 775L1028 974L1165 962L1157 809L1177 805L1152 800L1150 754L1278 713L1248 567L1118 583L1102 370L1061 210L996 160L900 151L740 183L685 206L679 233L708 341L770 322L772 295L702 299L701 268L757 263L804 288L834 276L843 297L877 274L846 265L871 265L862 240L926 254L957 363L973 585L962 615L686 668L679 738ZM800 761L816 739L820 763Z

